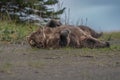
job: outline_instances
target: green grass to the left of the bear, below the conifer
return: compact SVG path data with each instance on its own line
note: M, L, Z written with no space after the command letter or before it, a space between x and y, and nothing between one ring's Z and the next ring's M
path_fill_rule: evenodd
M38 27L30 24L15 24L14 22L1 21L0 41L8 43L22 41L36 28Z

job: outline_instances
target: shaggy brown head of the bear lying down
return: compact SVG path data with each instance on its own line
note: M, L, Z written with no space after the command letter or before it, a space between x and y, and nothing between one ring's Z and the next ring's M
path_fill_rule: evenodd
M37 31L32 32L29 36L27 36L27 41L32 47L37 48L44 48L45 47L45 41L46 38L50 36L53 29L46 27L39 28Z

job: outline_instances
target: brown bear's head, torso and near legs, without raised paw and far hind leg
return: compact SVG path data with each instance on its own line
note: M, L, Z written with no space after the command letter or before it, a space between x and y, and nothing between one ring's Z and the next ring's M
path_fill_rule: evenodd
M66 26L39 29L28 37L31 46L37 48L60 48L70 46L74 48L109 47L109 43L102 42L86 34L79 27Z

